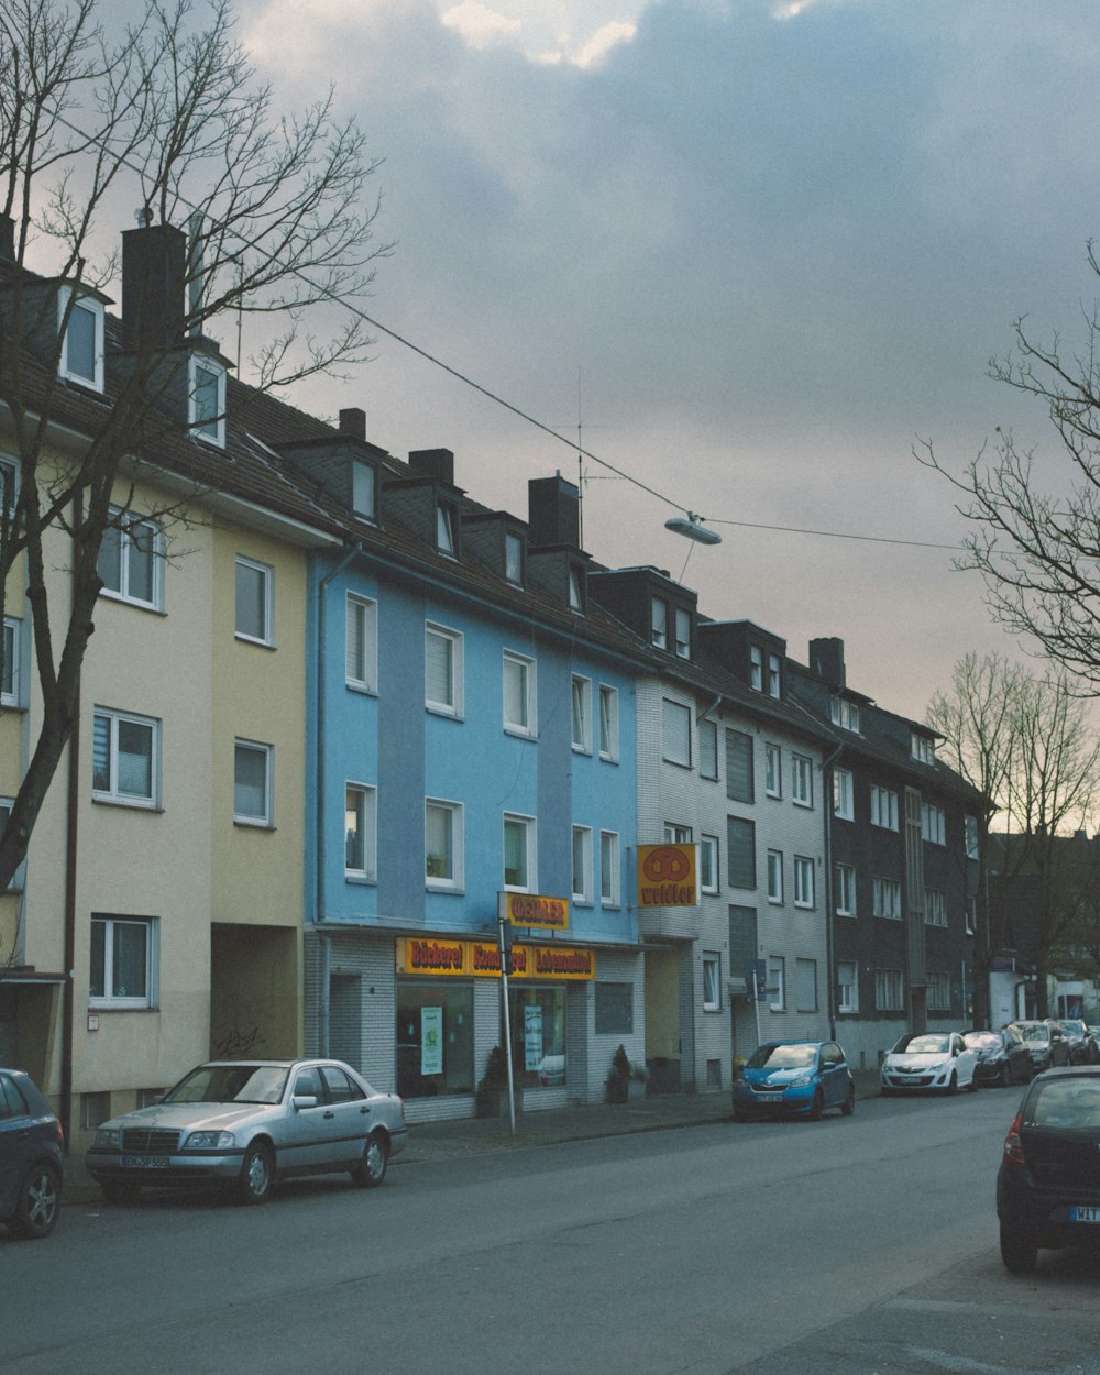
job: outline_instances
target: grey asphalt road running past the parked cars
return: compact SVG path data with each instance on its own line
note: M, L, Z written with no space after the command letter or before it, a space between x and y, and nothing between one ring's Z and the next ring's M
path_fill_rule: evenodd
M1013 1279L1015 1090L148 1198L0 1240L6 1375L1100 1375L1100 1264Z

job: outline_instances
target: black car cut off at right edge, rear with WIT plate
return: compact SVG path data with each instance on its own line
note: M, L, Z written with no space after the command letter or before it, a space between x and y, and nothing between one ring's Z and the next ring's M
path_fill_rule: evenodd
M1100 1247L1100 1066L1031 1081L997 1173L1001 1258L1013 1275L1040 1247Z

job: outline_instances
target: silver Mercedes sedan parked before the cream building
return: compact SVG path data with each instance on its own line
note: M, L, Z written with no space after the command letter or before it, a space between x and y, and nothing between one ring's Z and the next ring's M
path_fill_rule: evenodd
M381 1184L407 1141L403 1100L340 1060L212 1060L153 1107L104 1122L85 1160L111 1202L142 1185L220 1185L264 1203L293 1174Z

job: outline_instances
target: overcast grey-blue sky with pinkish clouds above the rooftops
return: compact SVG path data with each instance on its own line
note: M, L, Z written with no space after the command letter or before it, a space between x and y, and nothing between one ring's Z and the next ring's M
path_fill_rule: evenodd
M961 465L1038 407L989 381L1020 315L1100 294L1096 8L1078 0L242 0L287 109L329 82L384 157L370 314L645 484L583 470L584 544L921 718L1016 646L945 549ZM298 404L525 514L569 446L386 334ZM675 506L716 549L666 532ZM741 522L741 524L726 524ZM836 539L782 534L802 527ZM689 557L690 556L690 557ZM686 566L685 566L686 561Z

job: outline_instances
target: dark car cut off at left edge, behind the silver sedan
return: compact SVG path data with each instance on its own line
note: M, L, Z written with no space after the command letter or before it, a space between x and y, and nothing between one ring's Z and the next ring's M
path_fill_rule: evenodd
M0 1070L0 1222L16 1236L50 1236L60 1213L65 1136L22 1070Z

